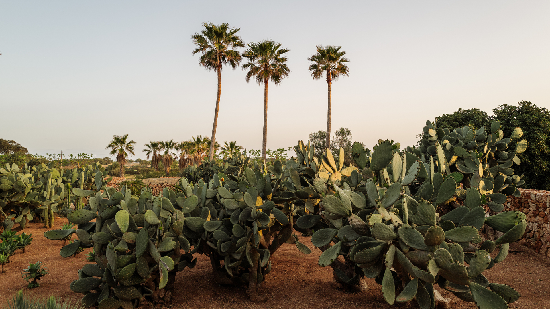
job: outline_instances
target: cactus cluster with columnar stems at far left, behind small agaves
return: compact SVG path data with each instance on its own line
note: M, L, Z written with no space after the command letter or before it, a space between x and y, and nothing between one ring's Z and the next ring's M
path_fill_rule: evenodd
M0 229L11 229L14 223L25 228L35 216L40 216L45 226L51 228L59 207L68 207L73 201L77 207L83 207L81 195L96 190L97 186L105 189L106 175L100 163L67 171L43 163L32 167L25 164L23 168L6 164L5 169L0 168Z

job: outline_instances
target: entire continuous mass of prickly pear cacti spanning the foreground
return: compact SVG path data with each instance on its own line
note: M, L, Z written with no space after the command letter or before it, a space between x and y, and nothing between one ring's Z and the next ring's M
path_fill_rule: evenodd
M273 253L284 243L311 253L293 235L297 230L312 234L322 251L318 264L332 267L347 289L375 278L388 304L416 299L433 308L437 284L482 309L506 308L519 293L489 283L483 271L502 262L526 228L525 214L502 212L522 184L511 165L524 149L505 152L521 130L503 139L498 123L491 134L431 125L419 148L379 140L371 152L354 144L357 167L344 166L343 150L316 158L300 141L296 158L270 166L244 156L204 162L189 169L194 182L182 178L159 196L147 189L132 195L124 186L78 191L89 200L68 214L79 229L45 236L77 234L61 250L64 257L94 247L88 258L95 263L71 284L87 306L166 301L175 272L195 265L194 253L210 258L218 283L246 285L251 300L265 299L259 288ZM440 216L444 205L454 209ZM484 225L504 235L482 242Z

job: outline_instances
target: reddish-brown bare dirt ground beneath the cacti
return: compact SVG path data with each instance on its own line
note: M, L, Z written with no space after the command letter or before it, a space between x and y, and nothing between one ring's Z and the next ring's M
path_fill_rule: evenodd
M56 228L67 223L67 219L56 219ZM45 229L42 224L31 223L25 233L32 233L34 240L27 247L26 253L18 250L5 264L5 273L0 274L0 305L7 304L7 299L19 290L37 297L52 294L61 297L80 299L82 294L70 291L69 284L78 278L78 269L89 263L84 255L85 250L76 257L62 258L59 255L62 241L48 240L43 237ZM19 232L20 233L20 232ZM18 234L19 234L18 233ZM76 236L74 236L76 237ZM172 304L167 308L201 308L201 309L237 309L237 308L417 308L415 301L409 304L389 306L384 302L382 290L374 279L366 279L368 290L361 293L344 293L332 286L332 271L329 267L317 265L321 251L315 249L309 238L301 237L300 241L312 249L310 255L303 255L295 245L284 244L272 257L273 268L260 291L267 293L263 303L248 301L244 288L227 287L217 284L212 279L210 260L206 256L199 258L195 268L186 268L178 273ZM493 256L498 252L493 252ZM45 262L50 272L41 280L38 288L29 290L21 278L21 271L29 262ZM550 258L538 255L531 249L513 244L507 259L484 272L490 282L505 283L521 293L520 299L509 305L509 308L546 309L550 308ZM453 308L476 308L474 303L464 302L452 293L438 289L443 297L452 300Z

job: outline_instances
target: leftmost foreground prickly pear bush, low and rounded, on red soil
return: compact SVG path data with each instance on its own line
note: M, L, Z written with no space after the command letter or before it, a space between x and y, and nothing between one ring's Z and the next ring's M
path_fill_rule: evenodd
M184 198L186 206L196 207L199 198L174 191L168 197L152 196L145 189L133 196L124 187L122 192L110 187L103 193L92 192L84 196L89 200L87 206L68 215L69 222L78 224L79 240L64 246L59 254L69 257L79 247L94 247L95 263L80 269L70 288L85 294L85 306L135 308L147 299L153 303L169 300L175 273L195 266L192 255L198 249L195 243L191 250L190 238L184 233L189 233L184 213L174 205L177 198ZM46 233L63 236L61 230Z

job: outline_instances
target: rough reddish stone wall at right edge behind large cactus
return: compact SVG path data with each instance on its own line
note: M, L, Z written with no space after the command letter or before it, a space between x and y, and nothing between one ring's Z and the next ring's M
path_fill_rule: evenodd
M504 211L525 213L527 229L519 244L531 247L538 253L550 256L550 191L519 189L521 197L509 197Z

